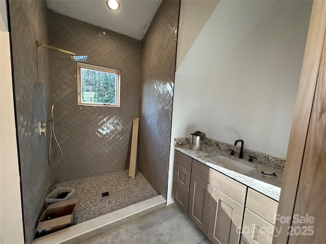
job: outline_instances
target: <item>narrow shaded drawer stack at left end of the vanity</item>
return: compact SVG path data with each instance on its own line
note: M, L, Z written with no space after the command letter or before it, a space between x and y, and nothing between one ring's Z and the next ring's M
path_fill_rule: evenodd
M192 158L179 151L174 154L173 199L179 208L187 214L189 199L190 171Z

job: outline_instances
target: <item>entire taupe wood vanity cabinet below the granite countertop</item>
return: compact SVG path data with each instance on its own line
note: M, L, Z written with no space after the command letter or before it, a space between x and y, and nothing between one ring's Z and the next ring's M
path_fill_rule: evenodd
M271 243L277 201L177 150L174 162L175 203L212 243Z

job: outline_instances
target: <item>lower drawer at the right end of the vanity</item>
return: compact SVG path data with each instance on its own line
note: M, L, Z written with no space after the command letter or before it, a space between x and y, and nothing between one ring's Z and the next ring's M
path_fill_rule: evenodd
M274 225L246 208L244 211L241 239L247 244L271 244Z

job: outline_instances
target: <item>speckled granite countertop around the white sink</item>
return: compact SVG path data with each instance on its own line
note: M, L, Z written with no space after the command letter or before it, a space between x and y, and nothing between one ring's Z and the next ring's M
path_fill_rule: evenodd
M237 156L231 156L230 151L219 149L207 144L203 144L201 151L194 151L189 148L189 144L177 145L174 148L181 153L196 159L197 161L209 166L212 169L215 169L237 181L246 185L270 198L279 201L280 192L281 192L281 182L283 177L283 170L277 169L272 166L263 164L254 159L254 162L248 162L248 159L239 159ZM226 168L224 165L219 164L208 157L213 155L223 155L230 159L236 160L238 162L250 165L255 167L255 170L248 173L242 174L234 170ZM261 171L265 173L275 172L277 176L263 175Z

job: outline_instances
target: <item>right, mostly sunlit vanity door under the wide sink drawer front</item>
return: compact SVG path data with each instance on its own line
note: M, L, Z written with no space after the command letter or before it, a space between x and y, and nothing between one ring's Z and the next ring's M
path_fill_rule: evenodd
M216 244L238 244L244 207L212 189L207 237Z

